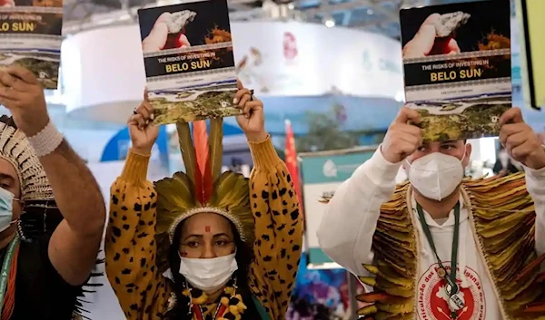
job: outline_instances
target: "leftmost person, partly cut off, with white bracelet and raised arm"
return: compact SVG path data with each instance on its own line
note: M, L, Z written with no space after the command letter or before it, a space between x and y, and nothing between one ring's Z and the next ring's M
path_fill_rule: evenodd
M104 230L102 193L50 121L33 73L0 69L0 103L13 116L0 118L0 319L81 316Z

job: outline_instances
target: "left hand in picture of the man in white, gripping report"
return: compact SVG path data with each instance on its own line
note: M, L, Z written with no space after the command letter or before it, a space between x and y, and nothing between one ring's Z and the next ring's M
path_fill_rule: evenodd
M421 129L409 124L409 121L420 123L420 115L411 108L403 107L382 141L381 152L385 160L401 162L421 146Z

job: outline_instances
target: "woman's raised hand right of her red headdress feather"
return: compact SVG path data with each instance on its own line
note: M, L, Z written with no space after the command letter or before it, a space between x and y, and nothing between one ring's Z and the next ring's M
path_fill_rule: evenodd
M253 92L244 88L243 83L237 80L238 92L235 93L233 103L243 110L243 114L236 117L248 141L264 141L268 137L265 131L265 117L263 102L253 96Z

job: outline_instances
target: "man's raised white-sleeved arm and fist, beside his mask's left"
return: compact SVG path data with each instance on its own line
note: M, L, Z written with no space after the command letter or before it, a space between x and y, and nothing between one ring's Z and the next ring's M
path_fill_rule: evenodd
M391 199L402 160L421 143L420 130L407 124L418 113L403 108L372 159L342 183L327 205L317 231L323 252L353 274L372 262L372 238L381 205Z

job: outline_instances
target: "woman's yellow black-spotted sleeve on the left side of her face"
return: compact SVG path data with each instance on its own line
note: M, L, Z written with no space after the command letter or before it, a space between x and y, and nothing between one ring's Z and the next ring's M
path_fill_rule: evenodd
M157 197L146 180L148 161L129 151L111 189L106 274L127 320L162 319L171 291L155 267Z

